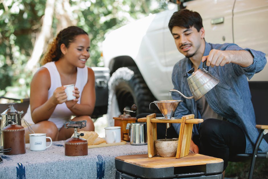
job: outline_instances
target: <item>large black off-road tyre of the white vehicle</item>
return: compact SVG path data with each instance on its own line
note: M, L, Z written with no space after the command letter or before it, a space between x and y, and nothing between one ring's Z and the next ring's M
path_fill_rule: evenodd
M157 108L152 105L149 110L149 105L155 97L147 87L141 73L137 67L121 67L117 69L110 77L109 83L109 98L107 109L108 125L113 126L113 117L123 114L123 109L131 110L131 106L136 104L136 113L129 113L135 117L141 113L154 113Z

